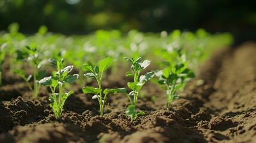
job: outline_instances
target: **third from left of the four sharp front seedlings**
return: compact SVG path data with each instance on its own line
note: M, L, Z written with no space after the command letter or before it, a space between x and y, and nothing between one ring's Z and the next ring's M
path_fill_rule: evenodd
M137 113L137 111L135 110L136 103L138 100L140 89L148 80L153 78L153 76L155 75L155 71L150 71L144 75L140 75L141 70L144 70L146 69L147 66L149 66L150 60L144 60L142 63L141 63L141 57L137 58L137 60L135 60L132 57L131 58L125 57L125 60L127 60L129 63L132 64L131 66L132 71L127 71L126 76L131 76L134 78L134 82L127 83L129 89L131 89L132 91L129 92L129 94L127 94L127 97L131 102L131 105L128 106L126 111L127 115L131 117L131 121L133 122L137 118L138 114L141 114L141 115L145 114L143 111L140 111L139 113ZM131 97L133 97L133 100Z

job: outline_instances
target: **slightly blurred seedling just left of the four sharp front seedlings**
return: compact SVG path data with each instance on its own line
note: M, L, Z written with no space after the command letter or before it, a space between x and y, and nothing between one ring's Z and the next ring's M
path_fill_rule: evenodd
M24 79L24 81L27 83L27 86L29 86L30 91L33 93L33 97L38 98L38 92L40 89L38 79L44 77L46 73L45 70L39 71L39 69L41 69L42 65L45 64L45 60L40 61L38 58L39 54L37 48L30 48L29 46L26 46L22 51L17 51L17 54L17 60L25 60L27 63L33 65L33 76L30 74L26 77L24 70L22 69L16 69L14 70L14 73L17 73ZM33 86L29 83L32 77Z

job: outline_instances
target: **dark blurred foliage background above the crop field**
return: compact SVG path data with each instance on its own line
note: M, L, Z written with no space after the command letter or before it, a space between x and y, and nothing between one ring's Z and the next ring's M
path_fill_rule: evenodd
M256 32L255 1L233 0L0 0L0 30L13 23L23 33L45 25L51 32L88 33L97 29L128 32L203 28L247 39ZM240 36L242 38L242 36Z

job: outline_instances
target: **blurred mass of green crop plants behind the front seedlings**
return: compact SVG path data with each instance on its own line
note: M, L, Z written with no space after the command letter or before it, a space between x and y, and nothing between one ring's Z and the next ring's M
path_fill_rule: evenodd
M171 61L169 54L175 54L176 51L182 51L187 61L190 61L188 66L196 70L198 64L208 58L216 47L230 45L233 40L229 33L211 34L203 29L198 29L195 33L186 30L174 30L171 33L141 33L131 30L127 34L119 30L97 30L88 35L72 36L50 33L46 26L39 27L35 35L24 35L18 29L18 23L13 23L7 32L0 32L0 85L2 72L13 74L14 69L21 69L24 60L27 61L30 53L24 46L36 49L38 61L47 57L64 58L66 63L72 63L75 67L89 64L88 61L96 64L95 61L111 56L114 59L111 73L115 74L122 57L156 57L152 63L161 67L159 63ZM2 71L2 64L7 59L10 69ZM78 82L85 85L83 78Z

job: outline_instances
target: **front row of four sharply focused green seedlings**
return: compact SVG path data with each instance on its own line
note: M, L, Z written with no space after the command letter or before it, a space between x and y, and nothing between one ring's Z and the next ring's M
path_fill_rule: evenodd
M141 71L146 69L150 64L150 60L142 61L141 57L134 59L133 57L127 58L125 60L131 64L131 71L127 71L126 76L133 77L133 82L128 82L128 88L131 92L127 93L127 89L125 88L106 88L103 89L101 86L101 82L103 80L104 71L106 71L112 64L113 57L104 58L97 66L91 66L90 64L82 64L81 70L85 72L84 76L88 78L95 78L98 83L98 87L85 86L82 88L84 94L94 94L92 99L98 100L98 104L100 105L100 117L103 117L104 105L107 100L107 95L110 93L117 94L118 92L122 94L126 94L130 105L128 105L126 113L131 117L131 122L133 122L137 116L144 115L143 111L137 113L136 104L139 97L140 89L143 85L152 79L155 74L158 77L158 83L163 85L163 88L166 91L166 108L168 109L171 105L171 102L178 98L177 91L181 87L185 85L187 79L195 77L193 71L188 69L185 64L180 63L175 66L166 67L164 70L160 71L150 71L145 74L141 74ZM61 118L61 113L63 111L64 102L67 98L72 95L74 92L69 91L67 93L63 92L63 86L66 83L75 82L79 74L70 75L70 71L72 71L73 66L66 66L63 69L63 58L61 60L55 60L54 58L50 58L51 64L53 64L57 71L54 71L51 76L44 77L44 79L39 80L39 85L49 86L51 89L51 95L49 100L51 102L50 107L53 108L56 119ZM58 92L55 90L58 88Z

